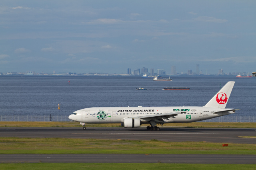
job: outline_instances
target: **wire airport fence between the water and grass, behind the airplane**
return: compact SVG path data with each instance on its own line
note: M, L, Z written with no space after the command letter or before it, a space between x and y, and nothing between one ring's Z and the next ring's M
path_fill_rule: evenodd
M0 121L71 121L69 115L0 115ZM254 116L226 115L200 122L256 122Z

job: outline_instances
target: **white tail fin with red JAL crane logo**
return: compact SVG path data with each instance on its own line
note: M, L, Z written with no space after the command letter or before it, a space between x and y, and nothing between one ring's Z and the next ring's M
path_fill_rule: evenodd
M204 107L225 108L235 82L227 82L220 91Z

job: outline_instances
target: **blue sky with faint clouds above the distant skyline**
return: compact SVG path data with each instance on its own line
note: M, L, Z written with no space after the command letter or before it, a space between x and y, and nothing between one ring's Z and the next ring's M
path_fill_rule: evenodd
M255 9L255 0L1 0L0 72L255 72Z

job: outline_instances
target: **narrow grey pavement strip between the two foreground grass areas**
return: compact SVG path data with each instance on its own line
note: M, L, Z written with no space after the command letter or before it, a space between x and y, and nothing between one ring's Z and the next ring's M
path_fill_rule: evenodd
M0 154L0 163L256 164L256 155L230 154Z

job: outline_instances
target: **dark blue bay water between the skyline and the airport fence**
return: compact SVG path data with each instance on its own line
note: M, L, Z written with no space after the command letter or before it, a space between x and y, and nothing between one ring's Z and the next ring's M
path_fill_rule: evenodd
M0 76L0 115L64 116L86 107L204 106L228 81L236 83L226 108L241 109L233 114L236 116L256 115L256 77L171 78L153 81L136 76ZM138 87L148 90L136 90ZM162 90L164 87L190 90Z

